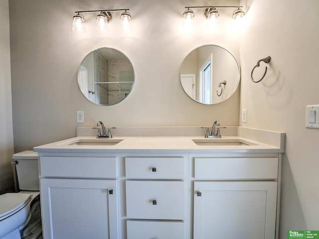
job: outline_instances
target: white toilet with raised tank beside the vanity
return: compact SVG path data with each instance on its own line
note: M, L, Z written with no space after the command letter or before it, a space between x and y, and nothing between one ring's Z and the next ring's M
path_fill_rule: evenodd
M13 154L19 193L0 195L0 239L42 239L38 155Z

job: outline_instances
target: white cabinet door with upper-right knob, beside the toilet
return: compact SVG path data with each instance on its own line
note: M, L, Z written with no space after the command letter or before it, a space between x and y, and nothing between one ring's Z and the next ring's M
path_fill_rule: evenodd
M44 238L118 239L116 185L116 180L41 178Z

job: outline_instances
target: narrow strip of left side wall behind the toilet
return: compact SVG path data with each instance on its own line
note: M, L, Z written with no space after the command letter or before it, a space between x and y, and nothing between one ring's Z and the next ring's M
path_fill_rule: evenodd
M0 194L13 190L13 130L8 0L0 0Z

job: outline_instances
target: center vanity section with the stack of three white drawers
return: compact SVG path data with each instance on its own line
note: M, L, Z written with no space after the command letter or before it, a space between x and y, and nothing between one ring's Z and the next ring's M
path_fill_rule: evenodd
M184 239L187 156L124 160L127 239Z

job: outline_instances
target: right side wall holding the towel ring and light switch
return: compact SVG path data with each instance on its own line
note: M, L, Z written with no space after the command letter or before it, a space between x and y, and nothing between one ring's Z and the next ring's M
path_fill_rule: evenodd
M306 124L306 105L319 105L319 1L243 0L241 40L243 126L286 132L280 238L288 230L319 229L319 129ZM271 56L266 78L250 80L257 61ZM259 69L261 71L264 68Z

